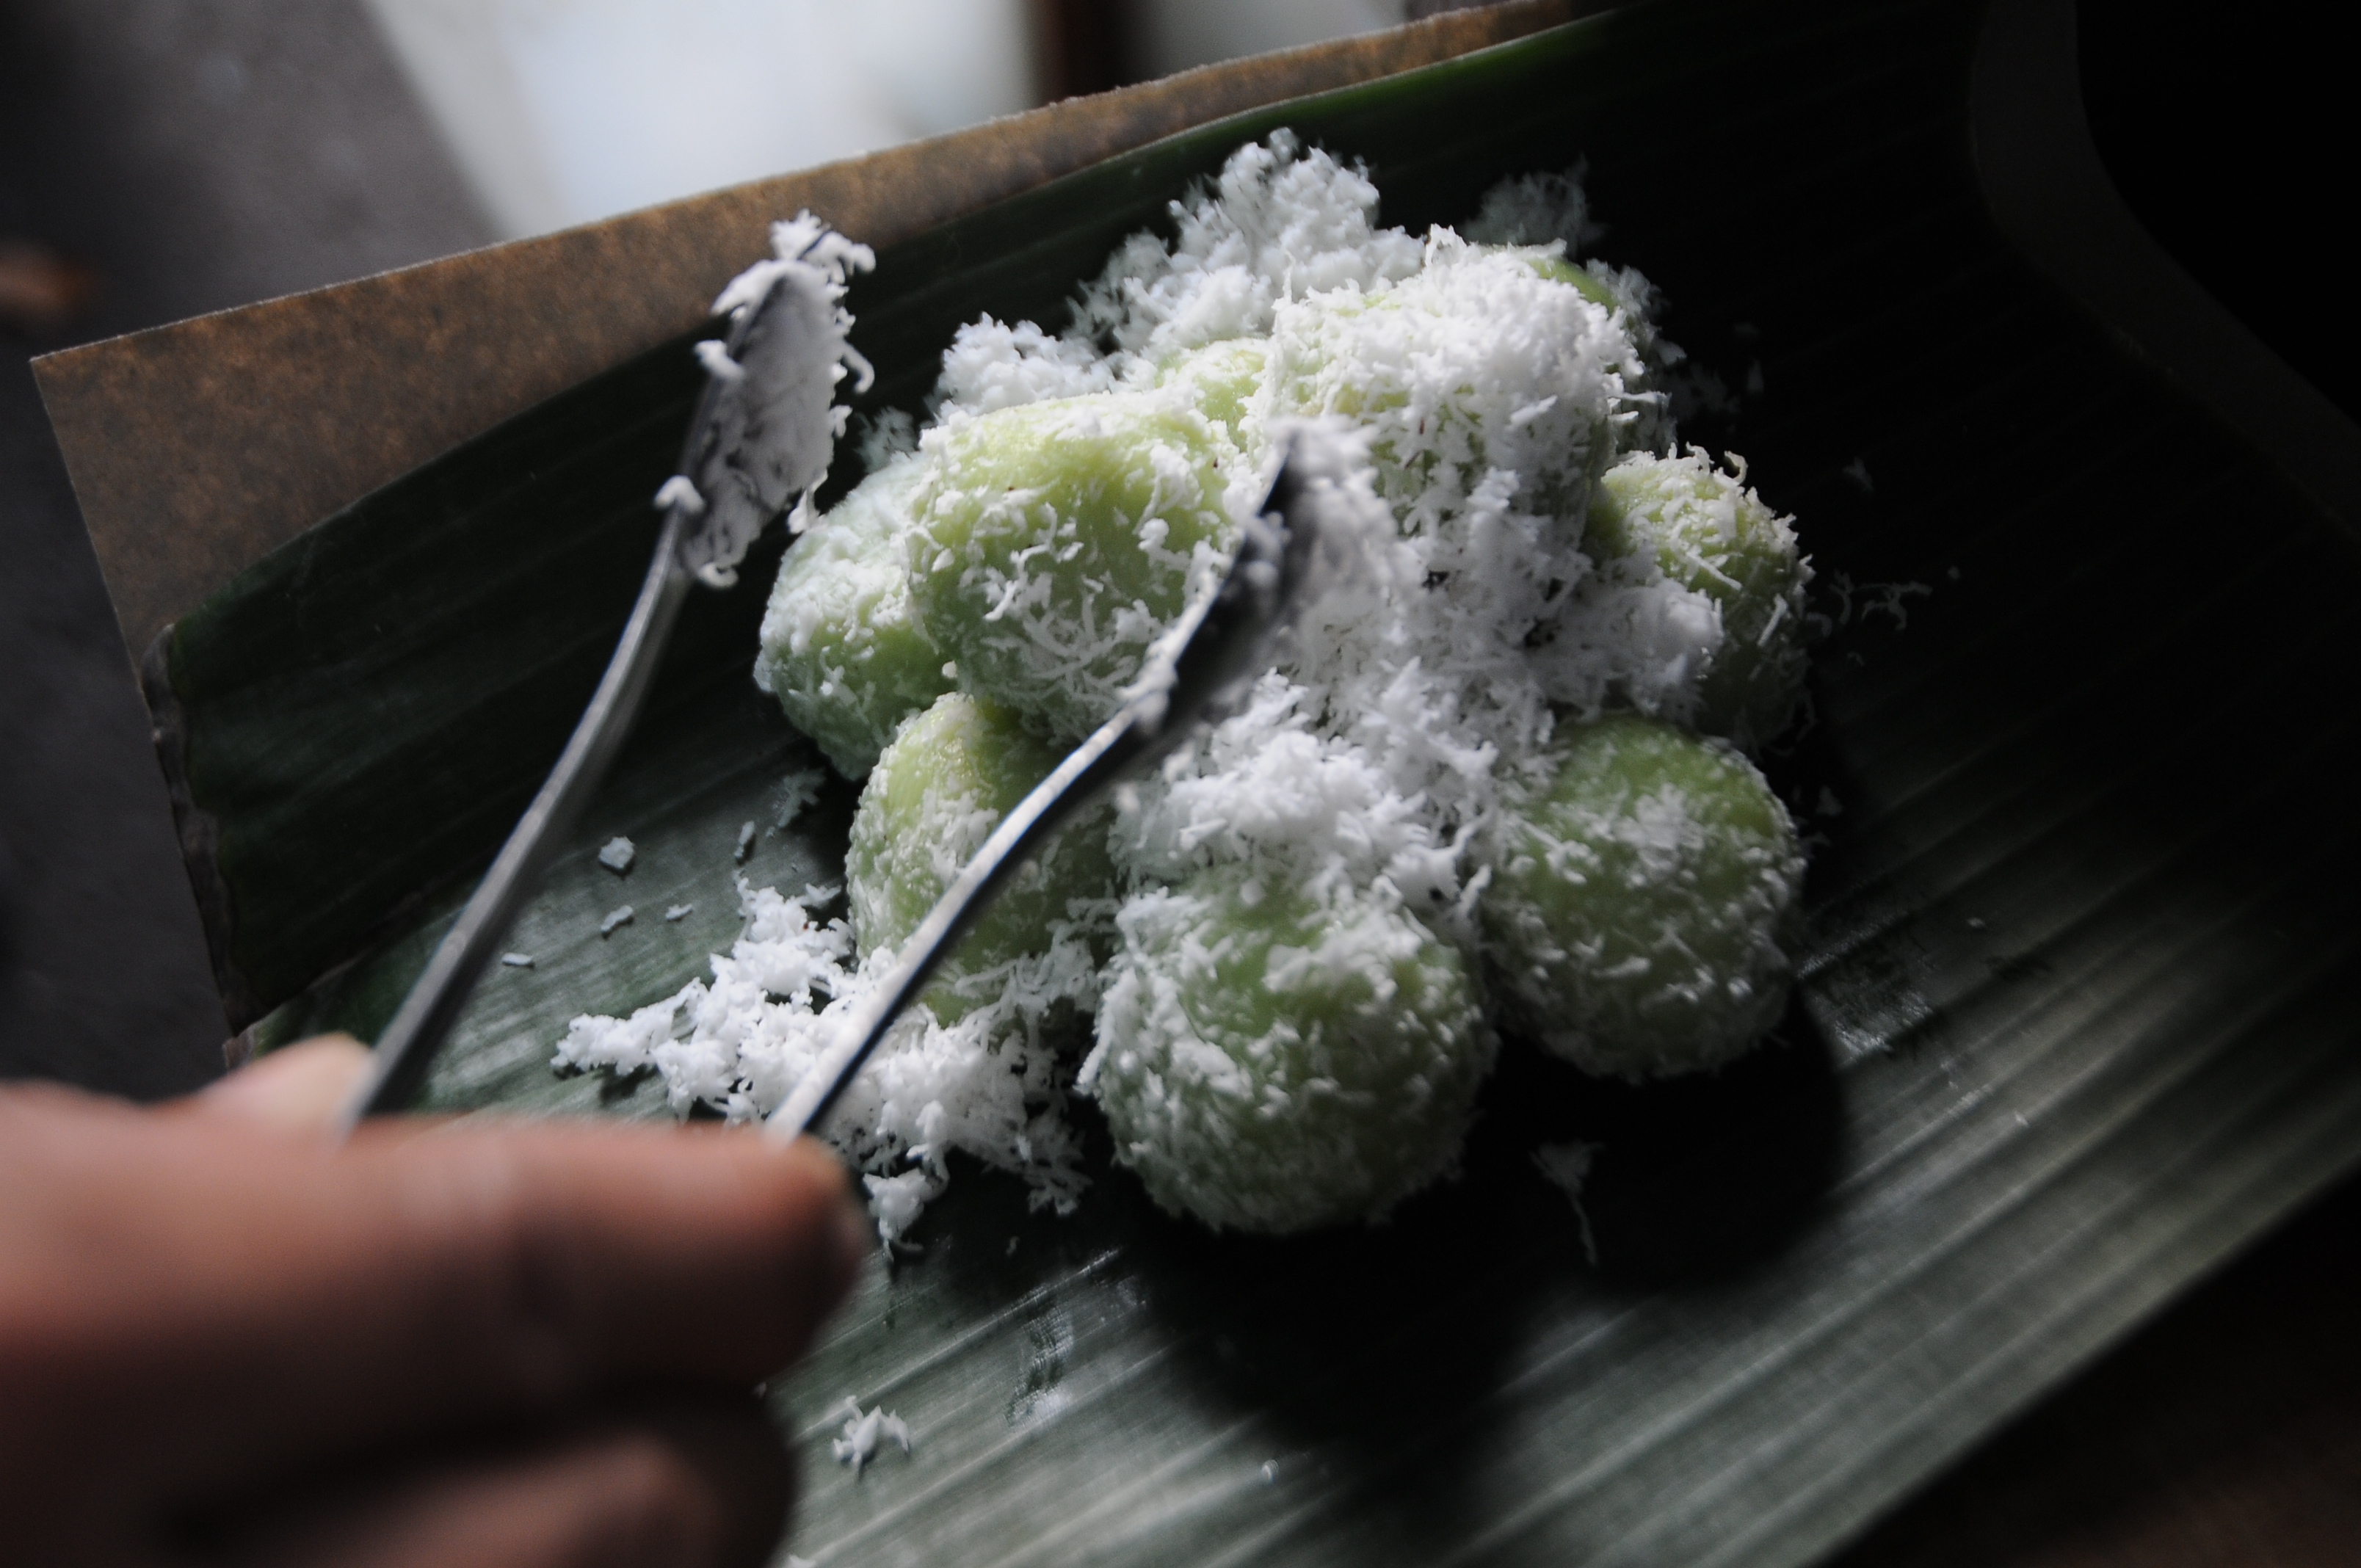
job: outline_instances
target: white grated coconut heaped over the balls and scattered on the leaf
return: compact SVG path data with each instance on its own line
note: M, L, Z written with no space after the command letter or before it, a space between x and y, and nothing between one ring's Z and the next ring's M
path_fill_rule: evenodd
M1679 626L1641 654L1565 635L1591 571L1587 486L1617 453L1672 444L1667 387L1683 357L1655 338L1636 272L1589 260L1594 290L1544 279L1596 234L1572 175L1509 182L1469 239L1379 229L1374 213L1362 170L1273 132L1173 203L1169 239L1143 231L1117 248L1062 333L992 316L959 328L935 420L1147 390L1204 345L1268 342L1230 501L1258 501L1258 453L1299 435L1320 560L1275 668L1223 723L1117 791L1110 850L1126 886L1251 862L1315 900L1381 888L1473 952L1487 878L1478 843L1499 784L1558 723L1530 656L1537 640L1558 638L1554 680L1584 694L1620 699L1643 675L1695 673L1695 638L1672 635ZM1277 418L1280 385L1294 409L1360 411L1358 427ZM914 439L902 425L871 435L878 453ZM1662 668L1631 673L1634 659ZM822 784L789 777L777 824ZM753 843L746 822L739 864ZM892 963L890 952L857 956L850 926L819 916L838 893L786 897L741 876L746 930L711 959L711 978L630 1018L576 1018L555 1063L654 1070L678 1115L770 1115ZM1107 985L1086 935L1060 928L1048 952L959 985L973 1011L954 1025L907 1011L817 1129L864 1174L888 1242L944 1190L951 1150L1025 1178L1036 1207L1070 1211L1086 1185L1065 1117L1074 1070L1055 1046L1055 1027L1096 1013ZM892 1436L888 1419L855 1405L838 1455L859 1466L878 1431Z

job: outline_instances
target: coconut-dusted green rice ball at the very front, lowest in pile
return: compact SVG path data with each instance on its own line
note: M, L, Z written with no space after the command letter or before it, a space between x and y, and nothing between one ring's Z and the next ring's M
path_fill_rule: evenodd
M1225 864L1119 926L1084 1086L1157 1204L1284 1235L1454 1167L1495 1039L1461 952L1398 904Z

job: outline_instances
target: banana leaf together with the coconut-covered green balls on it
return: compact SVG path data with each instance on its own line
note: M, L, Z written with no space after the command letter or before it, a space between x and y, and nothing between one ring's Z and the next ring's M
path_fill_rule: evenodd
M1032 888L1081 878L1062 916L1027 916L1072 963L1020 933L954 971L881 1056L897 1086L848 1096L866 1122L841 1143L892 1244L774 1386L807 1450L800 1559L1811 1561L2352 1164L2340 975L2361 933L2340 888L2361 848L2323 760L2354 720L2309 697L2361 652L2352 543L2002 236L1979 21L1936 0L1634 5L1199 125L852 272L850 359L874 378L843 383L817 527L772 529L737 590L682 616L418 1110L777 1103L859 982L857 928L890 928L956 843L928 779L968 779L973 805L999 772L1036 777L1119 694L1093 659L1157 631L1117 616L1062 645L1053 574L1008 567L1032 545L992 557L1022 512L994 496L1051 484L1020 484L1027 453L1164 508L1126 605L1218 567L1225 486L1244 494L1289 409L1334 416L1341 536L1426 529L1426 553L1372 543L1336 567L1329 642L1291 633L1223 775L1268 789L1188 817L1223 798L1216 734L1117 798L1114 848ZM1221 267L1237 288L1214 298ZM1511 300L1520 333L1421 338L1461 286ZM1469 371L1386 425L1417 392L1367 366L1513 375L1532 342L1563 347L1565 300L1565 333L1608 333L1584 349L1617 378L1596 420L1518 446L1589 394L1495 420L1452 401L1480 390ZM614 645L704 375L680 340L578 385L328 517L158 645L191 874L257 1048L392 1013ZM1417 439L1454 418L1480 439L1421 468ZM1412 479L1459 489L1412 522ZM1556 557L1551 505L1572 520ZM1681 555L1676 512L1719 520L1721 545ZM864 527L890 548L855 560ZM1615 576L1634 531L1655 564ZM1502 538L1532 550L1520 571L1497 569ZM791 579L843 557L812 590L838 621L807 616L803 642L767 597L789 548ZM1674 583L1674 557L1705 576ZM881 609L892 593L909 605ZM1461 640L1388 642L1386 607L1412 600L1450 602ZM1582 605L1655 664L1570 654L1605 647L1565 631ZM885 647L911 616L940 664ZM1492 647L1487 619L1554 673L1528 692L1435 652ZM796 673L815 638L866 671L871 708L807 704L798 727L774 692L819 690ZM1620 739L1580 753L1601 732ZM1306 777L1350 793L1346 751L1398 770L1336 817L1353 843L1221 864L1254 831L1313 834L1247 808L1284 817ZM1629 888L1598 876L1572 912L1535 890L1537 860L1591 831L1580 812L1523 860L1485 827L1539 819L1549 779L1584 767L1738 801L1705 827L1759 930L1688 930L1726 952L1676 1025L1615 989L1648 966L1617 959L1629 912L1601 914ZM1598 843L1690 852L1643 822L1653 789ZM1376 871L1353 860L1372 843ZM1525 947L1483 926L1518 897ZM1589 978L1551 989L1554 963ZM1039 1006L1003 1006L1018 992ZM1235 1053L1277 1098L1237 1112L1263 1131L1206 1133L1221 1072L1190 1051L1299 992L1329 1034ZM994 1008L999 1034L951 1027ZM1350 1065L1315 1051L1339 1030L1410 1065L1339 1086ZM1306 1133L1329 1164L1268 1131L1291 1115L1329 1117Z

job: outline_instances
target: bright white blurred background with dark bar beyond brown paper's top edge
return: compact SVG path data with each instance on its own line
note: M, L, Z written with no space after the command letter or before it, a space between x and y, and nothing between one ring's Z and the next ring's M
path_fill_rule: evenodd
M368 0L503 236L1402 21L1402 0ZM1421 7L1433 9L1433 7Z

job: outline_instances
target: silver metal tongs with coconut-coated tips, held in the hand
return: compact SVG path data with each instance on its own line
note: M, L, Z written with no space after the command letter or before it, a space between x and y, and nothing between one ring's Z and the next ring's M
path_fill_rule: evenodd
M765 276L767 269L767 276ZM741 290L756 281L756 290ZM630 732L663 647L692 583L727 588L746 543L826 472L833 442L831 380L836 359L850 357L833 298L796 276L793 264L746 274L715 309L734 307L730 335L699 345L711 371L680 475L659 491L663 531L649 560L640 600L607 661L590 706L567 739L541 793L524 808L467 907L427 959L418 982L378 1037L371 1074L347 1105L340 1136L364 1117L401 1110L425 1084L427 1067L458 1023L467 994L508 935L517 909L604 779ZM831 335L833 333L833 335ZM850 357L857 364L857 357ZM815 375L812 368L822 373ZM1221 588L1197 605L1162 642L1124 708L1100 725L1051 772L985 841L935 909L904 942L902 963L838 1030L838 1041L796 1084L770 1126L796 1136L817 1122L892 1027L949 947L985 912L1006 876L1041 848L1051 831L1126 770L1178 746L1199 718L1242 680L1261 671L1261 654L1310 562L1313 529L1301 503L1303 482L1289 458L1280 465L1263 512L1247 522L1237 557ZM1275 515L1275 517L1273 517Z

